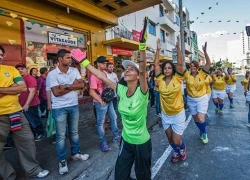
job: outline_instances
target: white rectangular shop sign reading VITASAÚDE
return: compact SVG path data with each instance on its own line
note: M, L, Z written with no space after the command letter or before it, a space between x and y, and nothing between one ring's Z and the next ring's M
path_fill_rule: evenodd
M77 47L78 39L63 34L48 32L49 43Z

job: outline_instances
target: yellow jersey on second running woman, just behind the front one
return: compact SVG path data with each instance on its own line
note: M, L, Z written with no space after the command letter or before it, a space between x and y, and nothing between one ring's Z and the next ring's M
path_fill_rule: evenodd
M208 73L203 69L199 71L196 77L192 76L191 72L185 71L184 77L187 81L187 93L189 96L198 98L207 94L205 79Z

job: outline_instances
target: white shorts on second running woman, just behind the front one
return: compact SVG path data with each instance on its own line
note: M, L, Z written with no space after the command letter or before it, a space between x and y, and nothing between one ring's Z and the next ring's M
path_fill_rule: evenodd
M193 97L188 96L187 104L188 104L190 114L196 115L198 112L207 114L208 96L207 94L198 98L193 98Z

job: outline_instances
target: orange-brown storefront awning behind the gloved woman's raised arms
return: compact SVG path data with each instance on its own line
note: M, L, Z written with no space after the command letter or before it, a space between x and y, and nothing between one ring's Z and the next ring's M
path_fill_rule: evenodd
M139 45L138 42L125 39L125 38L115 38L115 39L103 41L102 44L131 49L133 51L138 50L138 45Z

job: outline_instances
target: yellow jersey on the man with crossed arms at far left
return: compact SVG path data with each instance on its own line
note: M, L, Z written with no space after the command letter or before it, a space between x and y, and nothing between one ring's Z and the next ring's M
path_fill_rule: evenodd
M16 68L0 65L0 87L10 87L14 83L23 81ZM5 95L0 98L0 115L21 111L18 95Z

